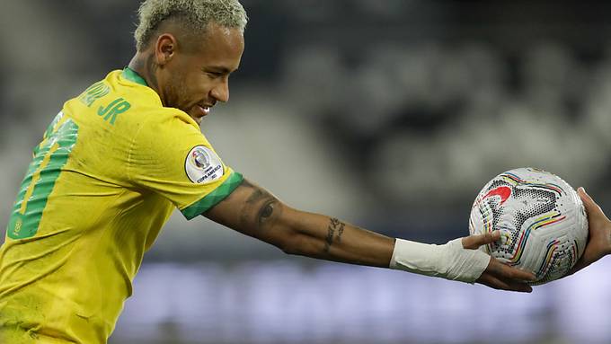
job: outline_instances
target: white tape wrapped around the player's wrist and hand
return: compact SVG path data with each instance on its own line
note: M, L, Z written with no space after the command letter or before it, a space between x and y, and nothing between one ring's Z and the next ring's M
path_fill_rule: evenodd
M390 268L474 283L489 262L490 256L483 251L463 248L461 239L443 245L396 239Z

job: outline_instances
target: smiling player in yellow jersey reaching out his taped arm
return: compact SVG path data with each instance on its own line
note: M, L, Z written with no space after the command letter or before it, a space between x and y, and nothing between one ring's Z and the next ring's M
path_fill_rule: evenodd
M105 343L174 207L288 254L532 290L532 274L475 250L498 232L394 239L288 207L227 166L199 123L229 99L245 25L237 0L147 0L128 67L66 101L34 149L0 249L1 343Z

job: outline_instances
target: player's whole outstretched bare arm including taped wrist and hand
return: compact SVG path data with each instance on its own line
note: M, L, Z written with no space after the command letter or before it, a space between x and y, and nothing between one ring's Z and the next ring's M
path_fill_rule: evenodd
M395 240L334 217L288 207L269 191L245 179L231 195L209 209L204 216L270 243L288 254L405 269L514 291L530 291L531 288L523 282L534 279L531 274L509 268L481 251L473 251L482 244L498 240L498 234L473 235L446 245ZM471 265L476 264L483 267L471 280L456 275L456 271L472 269Z

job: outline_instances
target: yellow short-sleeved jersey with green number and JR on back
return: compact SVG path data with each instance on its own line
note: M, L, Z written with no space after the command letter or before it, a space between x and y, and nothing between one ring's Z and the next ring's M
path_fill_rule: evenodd
M106 343L173 207L191 219L241 182L129 68L66 101L0 248L0 343Z

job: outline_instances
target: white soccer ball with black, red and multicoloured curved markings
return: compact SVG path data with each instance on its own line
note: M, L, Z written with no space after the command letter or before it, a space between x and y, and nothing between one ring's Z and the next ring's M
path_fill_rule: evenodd
M533 285L562 278L588 243L588 218L577 192L552 173L519 168L492 179L475 198L471 234L500 230L481 249L536 275Z

